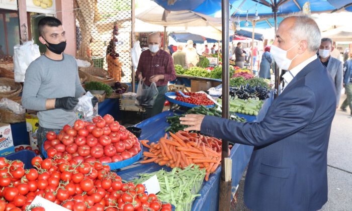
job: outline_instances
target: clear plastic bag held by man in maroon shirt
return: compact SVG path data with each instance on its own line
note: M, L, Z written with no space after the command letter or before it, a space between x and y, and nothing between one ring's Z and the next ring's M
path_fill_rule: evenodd
M147 86L140 80L137 88L136 105L143 108L152 108L158 93L155 82Z

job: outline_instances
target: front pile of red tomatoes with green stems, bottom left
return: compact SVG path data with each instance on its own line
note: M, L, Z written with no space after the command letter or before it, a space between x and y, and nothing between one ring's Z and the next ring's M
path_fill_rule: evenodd
M77 162L70 154L54 159L34 157L35 168L0 157L0 210L24 210L41 196L75 211L171 210L142 184L124 183L110 167L99 161ZM28 207L27 207L28 208ZM44 210L31 207L31 210Z

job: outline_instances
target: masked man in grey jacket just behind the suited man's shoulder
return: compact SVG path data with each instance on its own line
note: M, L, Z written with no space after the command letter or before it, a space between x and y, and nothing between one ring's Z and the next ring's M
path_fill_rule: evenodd
M322 38L319 47L319 59L321 63L326 67L327 71L332 77L332 81L335 84L336 89L336 109L340 102L341 90L342 90L342 62L331 56L332 40L330 38Z

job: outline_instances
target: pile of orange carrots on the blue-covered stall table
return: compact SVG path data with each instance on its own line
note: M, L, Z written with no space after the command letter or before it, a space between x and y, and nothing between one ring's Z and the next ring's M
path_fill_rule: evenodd
M197 133L179 131L175 134L169 132L159 142L148 145L148 140L141 140L149 152L143 152L144 160L141 163L157 163L171 168L185 169L191 164L206 169L205 180L209 174L215 172L221 162L221 140L214 137L203 136Z

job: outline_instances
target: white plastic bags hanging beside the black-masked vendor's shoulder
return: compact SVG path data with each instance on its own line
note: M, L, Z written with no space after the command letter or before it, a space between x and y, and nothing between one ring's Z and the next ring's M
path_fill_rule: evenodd
M14 46L15 81L24 82L29 64L40 56L39 46L34 41L27 41L23 45Z

